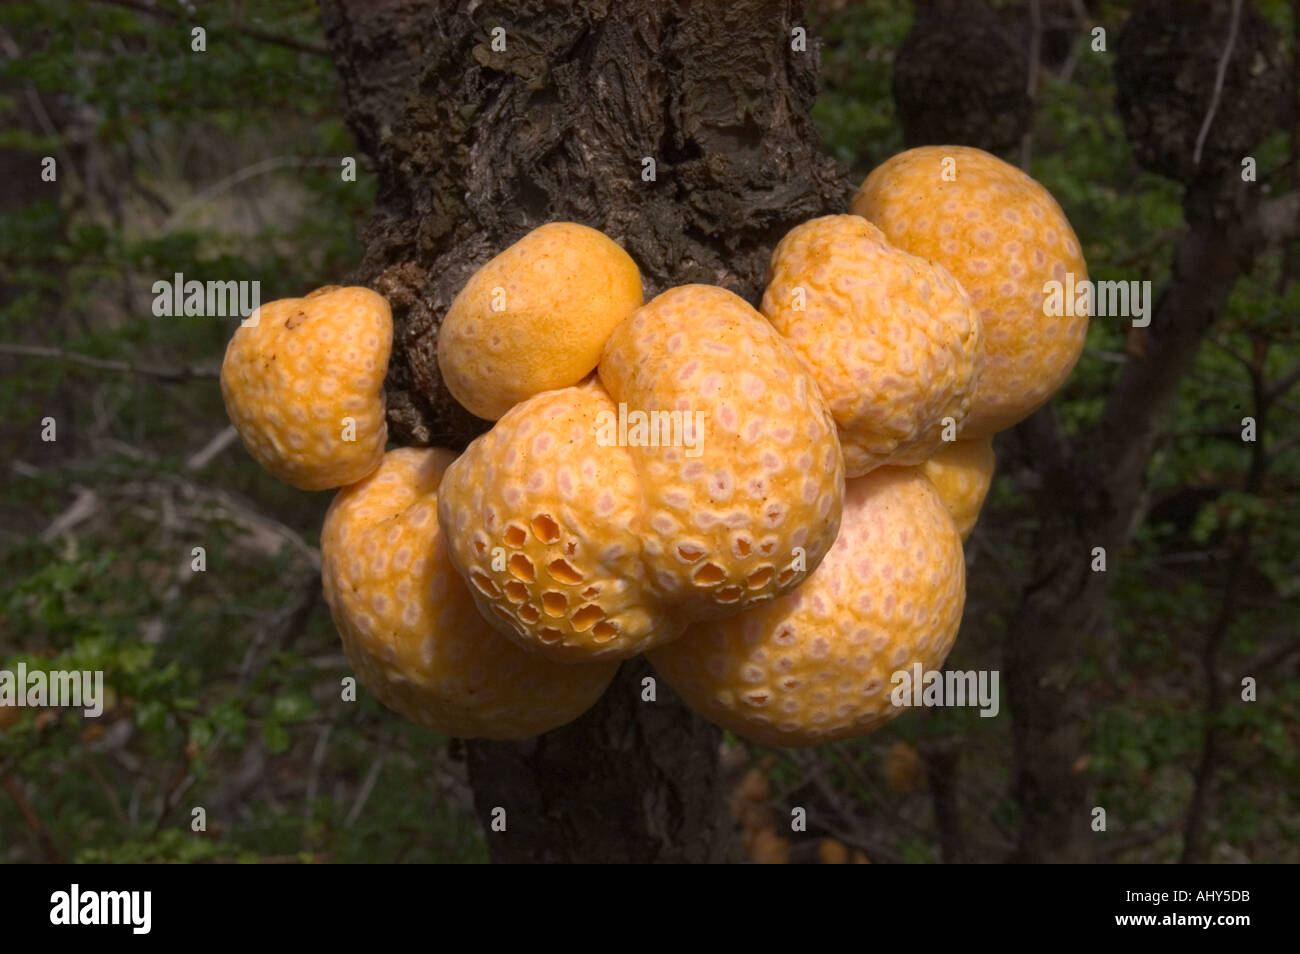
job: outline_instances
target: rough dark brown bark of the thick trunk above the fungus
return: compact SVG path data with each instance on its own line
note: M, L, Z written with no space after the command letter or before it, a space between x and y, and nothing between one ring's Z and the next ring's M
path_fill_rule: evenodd
M464 446L486 429L442 387L437 326L528 230L606 231L647 295L711 282L757 300L785 230L842 211L849 183L809 118L816 57L790 51L798 6L322 3L348 121L378 166L360 279L395 307L399 439Z

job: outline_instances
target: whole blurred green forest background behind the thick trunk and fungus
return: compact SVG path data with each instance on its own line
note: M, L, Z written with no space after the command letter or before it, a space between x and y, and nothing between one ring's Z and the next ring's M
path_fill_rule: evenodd
M1252 6L1296 75L1300 4ZM1032 136L1004 155L1030 157L1093 278L1158 291L1183 186L1139 166L1115 107L1130 8L1036 5ZM306 0L209 3L202 21L134 0L0 6L0 668L103 669L110 686L98 720L0 711L0 860L486 860L463 746L364 691L338 703L351 671L316 550L329 495L278 483L231 439L216 374L234 320L151 311L151 286L176 272L259 279L266 302L356 266L374 181L317 19ZM814 116L854 179L904 148L893 74L913 21L902 0L810 10ZM194 22L204 55L190 52ZM1095 25L1106 52L1089 47ZM1300 187L1294 126L1274 122L1249 153L1279 191ZM43 156L57 182L40 181ZM356 182L341 179L343 156ZM1108 555L1104 621L1069 673L1087 712L1072 771L1108 811L1102 859L1179 860L1191 836L1197 858L1300 860L1297 257L1292 240L1253 263L1196 351L1140 524ZM1100 420L1140 348L1127 322L1092 322L1056 399L1067 435ZM1030 447L998 439L950 668L1001 668L1036 572ZM1257 702L1239 702L1242 676ZM997 719L910 712L807 751L728 738L731 857L1008 857L1020 806L1005 689ZM818 807L806 834L789 832L792 806Z

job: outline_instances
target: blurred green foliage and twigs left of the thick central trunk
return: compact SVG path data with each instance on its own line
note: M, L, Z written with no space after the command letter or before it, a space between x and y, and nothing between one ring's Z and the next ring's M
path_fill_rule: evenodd
M0 139L32 170L58 159L57 183L32 173L0 204L0 341L214 368L234 318L156 317L155 282L259 281L272 300L346 281L374 182L334 66L250 32L320 47L316 6L204 6L207 53L176 4L0 6L25 51L0 92L30 84L61 131L6 122ZM226 424L216 382L4 354L0 369L0 450L17 463L0 499L0 669L105 673L101 717L25 708L0 729L0 775L61 857L484 860L448 795L464 786L446 740L364 690L341 701L351 668L311 558L328 498L283 487L238 442L187 467ZM84 519L40 539L83 490ZM43 858L23 818L0 798L4 860Z

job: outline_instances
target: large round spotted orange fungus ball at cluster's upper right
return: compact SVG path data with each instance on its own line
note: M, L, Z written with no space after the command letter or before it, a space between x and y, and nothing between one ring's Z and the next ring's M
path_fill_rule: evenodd
M1028 417L1083 351L1087 315L1048 316L1049 281L1087 281L1079 239L1052 194L966 146L923 146L878 166L852 211L898 248L948 268L984 325L985 365L962 438Z

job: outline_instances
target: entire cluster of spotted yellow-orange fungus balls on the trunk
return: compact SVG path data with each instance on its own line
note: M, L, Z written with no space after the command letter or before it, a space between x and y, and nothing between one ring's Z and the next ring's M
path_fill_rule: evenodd
M459 456L385 454L374 292L244 322L226 407L272 473L341 487L322 577L361 682L460 737L563 725L641 652L764 743L897 715L893 675L939 668L961 625L992 434L1082 348L1044 283L1086 265L1046 190L978 149L896 156L852 212L779 243L760 309L706 285L644 302L608 237L529 233L443 317L442 377L495 422Z

